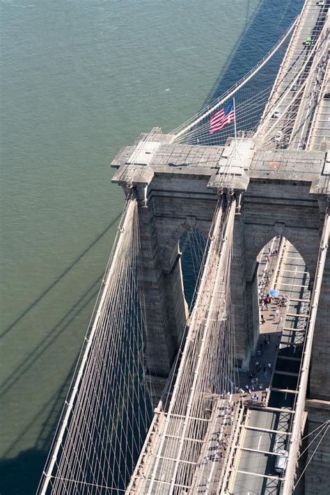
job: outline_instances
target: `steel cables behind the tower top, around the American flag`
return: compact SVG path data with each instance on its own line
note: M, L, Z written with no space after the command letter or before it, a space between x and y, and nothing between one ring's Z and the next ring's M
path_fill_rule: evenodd
M238 136L255 136L260 141L260 146L266 150L288 146L292 148L292 139L297 134L297 129L292 129L292 125L299 110L301 97L309 81L313 80L315 70L320 70L318 66L322 63L325 67L329 60L329 23L325 21L320 22L313 31L313 45L310 49L305 50L307 47L302 46L288 68L280 66L285 50L289 52L290 45L299 37L299 21L308 15L308 8L309 3L306 2L301 15L255 68L226 93L174 129L171 132L175 136L173 143L200 146L225 144L228 137L234 135L234 124L230 123L219 132L210 134L210 119L215 112L235 98ZM281 113L276 112L281 105L285 108ZM299 147L303 147L301 143Z

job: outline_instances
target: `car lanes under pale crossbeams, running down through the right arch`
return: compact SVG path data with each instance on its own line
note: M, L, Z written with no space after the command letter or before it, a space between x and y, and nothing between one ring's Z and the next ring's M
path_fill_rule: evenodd
M240 425L230 494L281 493L283 475L276 473L275 461L278 450L288 450L309 304L306 265L292 245L285 253L278 289L280 294L288 295L290 302L279 333L267 407L250 406L245 422Z

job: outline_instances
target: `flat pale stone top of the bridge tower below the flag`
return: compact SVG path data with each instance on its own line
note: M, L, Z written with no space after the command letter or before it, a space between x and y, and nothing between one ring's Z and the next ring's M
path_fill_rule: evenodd
M236 191L247 189L250 180L292 185L311 184L311 194L330 196L329 152L307 150L259 150L251 137L229 138L226 146L172 143L171 134L146 134L133 146L122 148L111 166L117 168L113 182L147 186L157 176L208 178L217 188L230 178Z

